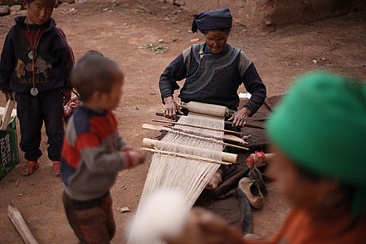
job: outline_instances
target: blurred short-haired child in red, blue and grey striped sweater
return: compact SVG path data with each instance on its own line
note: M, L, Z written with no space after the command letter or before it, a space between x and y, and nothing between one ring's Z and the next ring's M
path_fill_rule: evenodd
M132 150L117 130L111 110L121 100L123 73L116 62L84 56L71 80L82 104L70 118L63 142L63 204L80 243L109 243L116 230L109 189L119 171L144 161L145 152Z

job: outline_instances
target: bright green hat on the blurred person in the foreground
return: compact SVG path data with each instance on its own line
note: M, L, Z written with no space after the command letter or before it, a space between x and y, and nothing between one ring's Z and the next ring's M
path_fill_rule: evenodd
M303 75L270 116L267 131L296 164L356 189L353 215L365 213L366 87L326 72Z

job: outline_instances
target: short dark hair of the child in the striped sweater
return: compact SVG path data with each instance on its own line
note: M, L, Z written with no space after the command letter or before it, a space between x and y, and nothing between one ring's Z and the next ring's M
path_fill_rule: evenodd
M118 63L98 53L93 51L84 54L71 73L71 83L82 101L88 101L96 91L108 93L117 77L123 76Z

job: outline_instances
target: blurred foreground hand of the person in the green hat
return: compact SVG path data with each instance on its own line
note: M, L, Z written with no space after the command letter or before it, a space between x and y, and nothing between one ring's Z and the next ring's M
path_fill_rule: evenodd
M204 210L192 208L185 228L179 236L167 238L169 244L240 244L241 233L234 227Z

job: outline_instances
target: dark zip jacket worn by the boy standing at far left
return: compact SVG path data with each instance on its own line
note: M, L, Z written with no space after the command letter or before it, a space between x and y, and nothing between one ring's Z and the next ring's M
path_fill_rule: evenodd
M32 47L26 39L26 17L15 17L3 44L0 61L0 90L29 93L33 87L33 66L29 58ZM45 29L34 50L34 75L40 92L50 89L72 89L70 72L73 68L73 52L66 43L61 29L51 18L42 26L29 25L30 31Z

